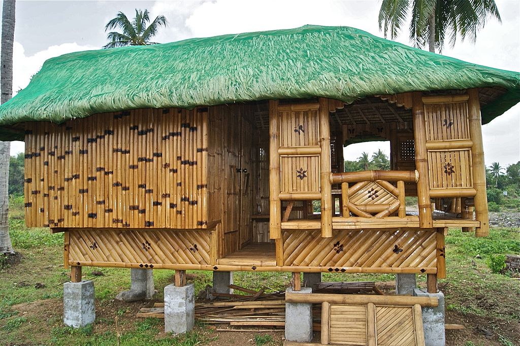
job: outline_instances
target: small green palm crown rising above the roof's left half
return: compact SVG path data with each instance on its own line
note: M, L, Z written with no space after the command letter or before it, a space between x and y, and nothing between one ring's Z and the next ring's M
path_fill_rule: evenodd
M105 26L105 32L114 28L120 28L123 33L109 32L107 38L110 42L103 48L157 44L157 42L150 42L150 39L157 34L160 26L166 26L167 21L164 16L157 16L147 28L146 24L150 22L148 15L148 10L145 9L143 12L136 9L135 18L130 22L123 12L118 12L118 15Z

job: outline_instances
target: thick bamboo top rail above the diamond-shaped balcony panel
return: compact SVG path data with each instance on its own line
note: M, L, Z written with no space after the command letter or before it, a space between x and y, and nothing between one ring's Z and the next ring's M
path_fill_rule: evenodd
M360 181L405 181L418 182L419 172L417 170L363 170L358 172L340 172L331 175L332 184Z

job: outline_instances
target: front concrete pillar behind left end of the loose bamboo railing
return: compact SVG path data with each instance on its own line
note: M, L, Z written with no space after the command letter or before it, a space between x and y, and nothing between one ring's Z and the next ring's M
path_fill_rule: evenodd
M310 287L302 287L300 291L293 291L291 287L285 293L308 294ZM313 304L285 303L285 340L309 342L313 339Z

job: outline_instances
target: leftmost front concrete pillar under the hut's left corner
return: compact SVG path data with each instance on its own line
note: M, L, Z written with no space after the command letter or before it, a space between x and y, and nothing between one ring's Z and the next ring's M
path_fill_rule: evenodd
M63 323L81 328L96 319L94 282L66 282L63 284Z

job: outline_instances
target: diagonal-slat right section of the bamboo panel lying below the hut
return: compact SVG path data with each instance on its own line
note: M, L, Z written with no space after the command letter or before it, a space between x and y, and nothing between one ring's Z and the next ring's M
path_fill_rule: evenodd
M418 316L422 318L421 316ZM375 335L380 346L415 346L412 307L375 307ZM422 331L421 331L422 332Z

